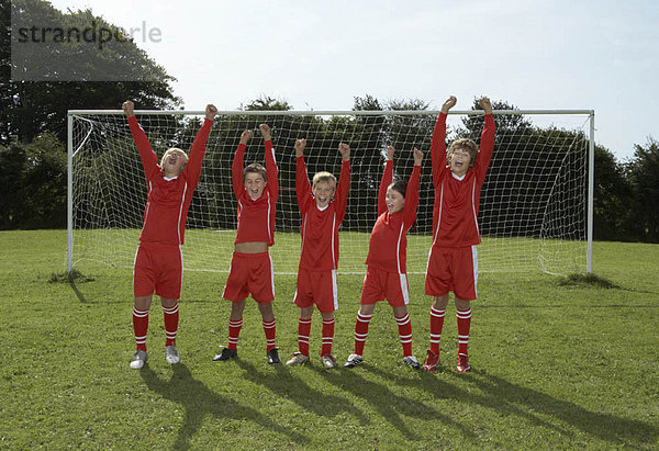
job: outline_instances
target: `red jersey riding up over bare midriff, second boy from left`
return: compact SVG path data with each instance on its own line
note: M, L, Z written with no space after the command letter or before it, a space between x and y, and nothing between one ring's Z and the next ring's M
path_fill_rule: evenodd
M277 162L272 142L264 143L266 146L267 183L264 193L256 201L252 200L245 182L243 181L244 159L246 145L239 144L231 167L233 190L238 201L238 226L235 243L265 241L268 246L275 244L275 214L279 196L279 181L277 180Z

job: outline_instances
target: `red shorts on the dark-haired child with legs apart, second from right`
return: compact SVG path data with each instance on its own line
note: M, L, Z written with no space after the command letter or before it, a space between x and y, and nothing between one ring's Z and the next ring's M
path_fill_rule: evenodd
M410 303L407 274L367 268L361 287L361 304L375 304L387 300L392 307Z

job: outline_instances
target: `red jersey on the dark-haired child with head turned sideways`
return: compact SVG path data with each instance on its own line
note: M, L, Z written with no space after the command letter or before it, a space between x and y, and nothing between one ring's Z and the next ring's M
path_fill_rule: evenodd
M387 189L393 180L393 160L388 160L378 193L378 221L371 232L366 264L387 272L407 273L407 230L416 221L418 205L418 179L421 166L414 166L407 182L405 206L402 211L389 213Z

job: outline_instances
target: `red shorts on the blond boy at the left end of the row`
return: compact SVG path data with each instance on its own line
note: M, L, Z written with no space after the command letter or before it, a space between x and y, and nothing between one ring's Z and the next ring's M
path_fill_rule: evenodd
M183 282L183 255L179 246L141 243L135 253L133 294L178 300Z

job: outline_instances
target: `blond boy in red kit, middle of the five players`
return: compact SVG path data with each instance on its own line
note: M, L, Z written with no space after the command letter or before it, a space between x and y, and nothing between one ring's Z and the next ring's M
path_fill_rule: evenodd
M344 143L338 145L343 159L338 188L336 177L330 172L315 173L312 188L304 164L305 146L306 139L295 140L295 192L302 215L300 229L302 249L298 270L298 290L293 301L300 307L299 351L294 352L286 364L295 367L309 361L309 334L313 304L315 304L323 317L321 361L325 368L336 368L332 342L334 341L334 311L338 308L336 296L338 227L346 215L350 189L350 147Z

